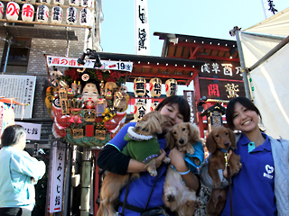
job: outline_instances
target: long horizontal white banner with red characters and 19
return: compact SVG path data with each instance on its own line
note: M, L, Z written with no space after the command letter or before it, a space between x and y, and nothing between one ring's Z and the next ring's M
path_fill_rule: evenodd
M79 58L47 56L47 66L94 68L95 59L86 59L84 65L80 65L78 59ZM100 60L100 62L102 66L98 67L99 69L122 70L129 72L132 72L133 70L133 62L129 61Z

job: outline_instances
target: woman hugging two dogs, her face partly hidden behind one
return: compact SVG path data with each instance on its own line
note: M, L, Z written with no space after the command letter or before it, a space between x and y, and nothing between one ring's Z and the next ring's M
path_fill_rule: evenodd
M170 130L174 124L190 121L191 108L189 103L182 97L173 95L163 99L155 109L163 115L170 117L170 122L163 126L163 134L158 135L160 148L164 149L166 145L165 133ZM98 155L97 164L99 167L117 174L124 175L126 173L142 172L140 178L133 180L129 184L127 196L126 187L120 193L120 202L124 202L126 196L125 216L141 215L141 211L144 211L150 194L151 198L149 199L145 210L145 215L164 215L161 208L163 208L164 205L163 183L168 165L163 164L163 166L161 166L163 158L166 155L171 158L172 166L174 166L178 172L182 173L183 181L194 191L197 191L199 188L199 176L190 172L189 167L185 163L183 152L180 152L176 148L173 148L170 152L166 149L167 152L163 150L163 153L155 158L156 166L161 166L162 170L160 171L160 175L152 190L156 177L149 175L149 173L145 171L144 163L126 157L121 153L127 143L127 141L124 140L124 137L129 126L135 126L135 122L127 123L126 126L117 133L116 137L107 143L105 148L103 148ZM122 212L122 204L120 205L118 212ZM171 215L173 215L172 212Z

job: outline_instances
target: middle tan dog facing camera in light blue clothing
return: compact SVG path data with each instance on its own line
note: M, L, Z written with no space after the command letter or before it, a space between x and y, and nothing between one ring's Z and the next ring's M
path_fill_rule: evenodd
M193 154L194 144L200 141L200 131L197 126L190 122L176 124L168 132L166 143L168 148L178 148ZM194 163L200 166L200 159L195 157ZM196 207L196 192L191 191L182 181L182 176L172 167L169 166L163 184L163 202L179 216L193 215Z

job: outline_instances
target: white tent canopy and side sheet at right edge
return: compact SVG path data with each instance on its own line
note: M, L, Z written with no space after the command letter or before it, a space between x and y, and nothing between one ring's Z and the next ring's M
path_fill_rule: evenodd
M240 31L245 67L252 67L289 35L289 8L264 22ZM266 133L289 139L289 45L284 45L259 66L253 67L253 101L261 112Z

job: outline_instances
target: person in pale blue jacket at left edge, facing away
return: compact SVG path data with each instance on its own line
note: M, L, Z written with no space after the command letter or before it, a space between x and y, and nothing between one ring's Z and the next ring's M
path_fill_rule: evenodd
M21 125L8 126L1 145L0 215L30 216L35 204L34 184L45 174L45 164L23 150L26 131Z

